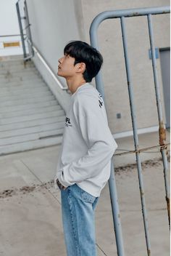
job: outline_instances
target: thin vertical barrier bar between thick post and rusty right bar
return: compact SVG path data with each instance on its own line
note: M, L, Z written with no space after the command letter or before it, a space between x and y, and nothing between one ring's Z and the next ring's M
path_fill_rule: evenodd
M143 175L142 175L142 169L141 169L141 158L138 145L138 129L136 124L136 117L135 117L135 103L133 99L133 84L131 81L131 74L130 74L130 63L129 63L129 57L128 57L128 45L127 45L127 38L126 38L126 32L125 32L125 17L121 17L121 29L122 29L122 42L123 42L123 49L124 49L124 55L125 55L125 67L126 67L126 73L127 73L127 81L128 81L128 93L129 93L129 99L130 99L130 111L131 111L131 117L132 117L132 123L133 123L133 138L134 138L134 145L135 145L135 151L136 151L136 162L138 167L138 180L139 180L139 188L140 188L140 195L141 195L141 205L142 205L142 213L143 213L143 225L145 230L145 236L146 236L146 248L147 248L147 254L148 256L151 255L151 246L150 246L150 239L149 239L149 227L148 227L148 221L147 221L147 212L146 212L146 202L145 202L145 196L144 196L144 190L143 190Z

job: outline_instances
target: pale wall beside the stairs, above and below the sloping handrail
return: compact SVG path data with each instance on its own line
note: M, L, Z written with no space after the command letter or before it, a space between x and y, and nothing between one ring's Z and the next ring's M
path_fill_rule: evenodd
M83 38L83 24L80 25L83 22L81 1L27 0L27 4L33 44L49 63L52 71L57 73L58 60L63 55L64 46L69 41ZM37 55L33 57L33 61L59 104L66 110L70 95L57 86ZM65 80L59 80L66 87Z

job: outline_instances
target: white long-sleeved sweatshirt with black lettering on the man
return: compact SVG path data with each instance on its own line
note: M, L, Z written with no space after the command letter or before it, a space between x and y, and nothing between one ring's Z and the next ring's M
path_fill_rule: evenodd
M101 95L91 84L83 84L71 97L55 181L58 178L64 187L76 183L99 196L116 148Z

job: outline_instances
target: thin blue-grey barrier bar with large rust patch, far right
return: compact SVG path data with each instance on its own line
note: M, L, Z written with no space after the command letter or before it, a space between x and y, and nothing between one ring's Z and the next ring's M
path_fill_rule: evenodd
M166 129L164 128L164 122L162 117L162 104L161 104L161 98L159 94L159 80L157 76L157 63L155 58L155 50L154 50L154 35L153 35L153 28L152 28L152 20L151 15L148 15L148 25L149 25L149 39L150 39L150 45L151 45L151 56L152 56L152 66L153 66L153 74L154 74L154 86L155 86L155 92L156 92L156 99L157 99L157 112L158 112L158 118L159 118L159 144L161 147L161 153L162 153L162 160L163 160L163 166L164 166L164 185L165 185L165 191L166 191L166 201L167 201L167 212L168 212L168 220L170 225L170 189L168 185L168 178L167 178L167 150L166 146L164 145L164 140L166 140Z

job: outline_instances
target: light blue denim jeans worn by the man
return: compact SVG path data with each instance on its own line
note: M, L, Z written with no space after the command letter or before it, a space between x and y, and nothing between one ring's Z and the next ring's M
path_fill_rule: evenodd
M94 209L98 197L71 185L61 191L67 256L96 256Z

